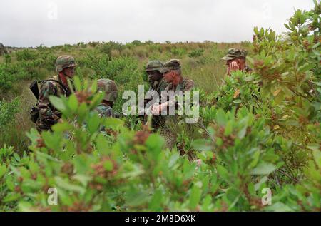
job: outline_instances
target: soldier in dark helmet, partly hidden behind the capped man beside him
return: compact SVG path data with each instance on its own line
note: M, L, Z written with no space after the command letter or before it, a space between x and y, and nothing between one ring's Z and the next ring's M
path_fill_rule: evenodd
M168 85L163 80L163 73L161 70L163 69L163 63L161 61L149 61L146 65L146 73L148 74L148 83L150 84L149 92L157 92L158 96L161 96L161 91L164 91L166 86ZM145 99L144 106L151 99ZM147 115L144 117L144 121L147 121ZM165 117L162 115L153 115L151 120L151 127L154 130L158 130L165 123Z

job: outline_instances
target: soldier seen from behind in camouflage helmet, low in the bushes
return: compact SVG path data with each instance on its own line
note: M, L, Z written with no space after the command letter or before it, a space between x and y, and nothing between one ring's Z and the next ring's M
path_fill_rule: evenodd
M99 79L97 81L97 91L105 93L103 101L97 106L96 111L100 117L116 117L113 112L113 103L118 96L116 83L110 79Z

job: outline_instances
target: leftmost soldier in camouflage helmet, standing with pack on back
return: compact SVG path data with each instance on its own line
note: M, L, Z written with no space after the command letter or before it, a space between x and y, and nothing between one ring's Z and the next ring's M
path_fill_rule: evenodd
M49 102L49 96L70 96L71 89L68 86L68 80L72 81L75 73L75 60L72 56L59 56L56 59L57 76L41 84L37 108L39 109L39 118L36 121L36 129L39 131L51 130L51 126L58 123L61 119L59 112Z

